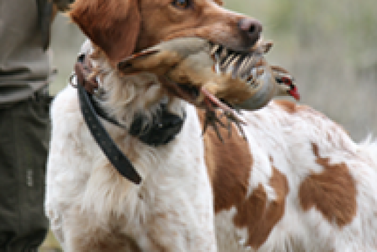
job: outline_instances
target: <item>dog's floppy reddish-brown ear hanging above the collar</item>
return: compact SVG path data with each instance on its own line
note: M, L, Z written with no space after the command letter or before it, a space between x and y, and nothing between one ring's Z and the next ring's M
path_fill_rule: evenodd
M137 0L76 0L69 15L111 64L135 50L140 29Z

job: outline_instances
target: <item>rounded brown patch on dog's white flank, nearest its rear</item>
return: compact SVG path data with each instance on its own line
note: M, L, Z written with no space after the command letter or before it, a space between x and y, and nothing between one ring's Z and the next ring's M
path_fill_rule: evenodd
M329 158L320 157L316 144L312 144L316 163L324 168L320 174L309 175L300 185L299 199L302 209L316 207L329 221L342 227L356 215L356 184L345 163L329 164Z

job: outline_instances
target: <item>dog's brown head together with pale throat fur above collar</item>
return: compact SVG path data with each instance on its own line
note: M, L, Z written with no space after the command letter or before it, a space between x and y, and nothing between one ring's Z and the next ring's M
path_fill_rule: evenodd
M95 45L93 58L97 55L106 110L126 126L140 114L148 118L148 125L167 97L168 110L183 117L182 100L171 95L171 88L164 87L161 79L149 72L122 75L117 63L180 37L200 37L231 50L249 50L260 38L262 26L221 5L221 0L76 0L68 14Z

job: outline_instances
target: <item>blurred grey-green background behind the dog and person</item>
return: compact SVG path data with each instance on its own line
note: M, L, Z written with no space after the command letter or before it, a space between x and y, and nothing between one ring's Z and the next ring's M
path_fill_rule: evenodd
M270 64L296 78L302 100L342 124L356 141L377 134L376 0L228 0L226 7L262 21L274 41ZM52 29L59 74L52 94L67 84L84 36L60 14Z

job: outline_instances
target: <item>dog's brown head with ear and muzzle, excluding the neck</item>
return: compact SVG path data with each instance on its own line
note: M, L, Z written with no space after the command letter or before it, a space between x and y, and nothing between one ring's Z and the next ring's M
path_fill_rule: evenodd
M261 24L221 7L221 0L77 0L70 17L111 64L177 37L201 37L249 50Z

